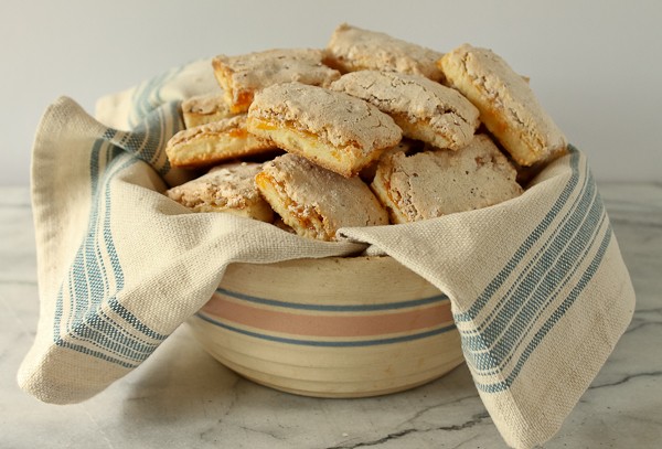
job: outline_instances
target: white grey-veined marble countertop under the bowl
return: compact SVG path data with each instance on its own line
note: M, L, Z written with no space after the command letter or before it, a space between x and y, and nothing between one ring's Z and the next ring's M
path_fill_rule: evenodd
M662 441L662 185L600 184L637 291L630 328L545 448ZM421 387L314 399L243 379L180 328L147 362L77 405L21 392L39 314L28 189L0 188L1 448L505 448L466 365Z

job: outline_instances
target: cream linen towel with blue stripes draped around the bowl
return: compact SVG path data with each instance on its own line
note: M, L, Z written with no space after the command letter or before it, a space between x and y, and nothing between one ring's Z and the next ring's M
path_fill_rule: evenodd
M451 300L462 351L504 440L548 440L624 332L634 292L585 156L570 148L514 200L405 224L298 237L162 193L179 100L217 89L196 62L99 100L61 98L32 162L41 301L18 373L41 400L85 400L138 367L212 296L233 261L386 254ZM130 128L120 131L117 128Z

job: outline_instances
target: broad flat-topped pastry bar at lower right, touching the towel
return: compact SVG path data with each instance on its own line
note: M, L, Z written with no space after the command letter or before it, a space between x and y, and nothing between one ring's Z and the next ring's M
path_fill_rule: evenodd
M516 171L485 135L458 151L402 152L380 161L373 191L394 223L491 206L522 194Z

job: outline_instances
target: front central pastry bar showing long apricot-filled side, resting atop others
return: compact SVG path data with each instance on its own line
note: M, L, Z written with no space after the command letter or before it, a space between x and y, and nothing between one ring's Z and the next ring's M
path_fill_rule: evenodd
M402 138L393 119L373 105L300 83L259 92L247 127L250 133L344 177L357 174Z

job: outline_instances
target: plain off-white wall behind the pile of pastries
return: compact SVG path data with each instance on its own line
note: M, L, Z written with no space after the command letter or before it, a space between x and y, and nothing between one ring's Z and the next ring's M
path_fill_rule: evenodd
M0 1L0 185L26 185L45 107L182 63L325 46L341 22L438 51L469 42L523 75L600 181L660 181L662 2Z

